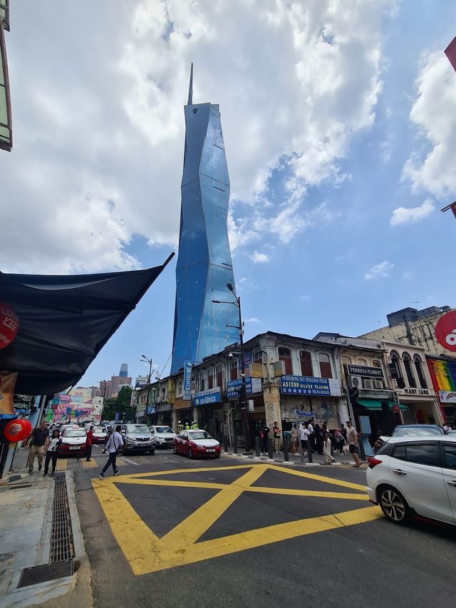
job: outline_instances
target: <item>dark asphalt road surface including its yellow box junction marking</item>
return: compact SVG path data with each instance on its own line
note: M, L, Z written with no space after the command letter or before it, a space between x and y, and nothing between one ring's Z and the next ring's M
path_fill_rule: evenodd
M456 530L390 524L364 470L127 458L103 481L75 468L97 608L455 603Z

